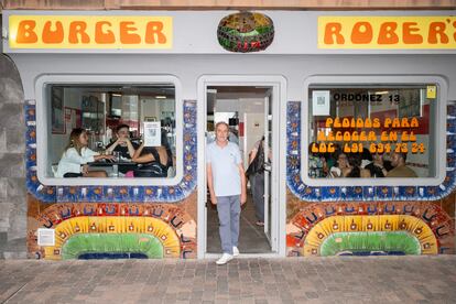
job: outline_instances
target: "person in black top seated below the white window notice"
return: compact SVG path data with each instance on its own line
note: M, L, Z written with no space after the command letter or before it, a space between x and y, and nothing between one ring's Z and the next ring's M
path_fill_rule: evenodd
M173 153L167 143L166 133L162 131L162 145L144 146L142 143L134 152L132 161L139 164L134 177L166 177L173 166Z

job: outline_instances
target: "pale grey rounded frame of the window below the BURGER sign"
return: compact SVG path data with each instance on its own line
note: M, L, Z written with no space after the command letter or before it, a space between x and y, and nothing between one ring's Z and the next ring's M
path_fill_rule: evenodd
M146 86L159 84L172 84L175 88L175 120L176 120L176 174L167 177L84 177L84 178L59 178L47 176L48 159L46 148L48 146L47 107L48 86L51 85L131 85ZM182 85L173 75L98 75L98 74L46 74L37 77L35 82L36 93L36 175L43 185L50 186L172 186L177 185L183 178L183 106ZM69 133L68 133L69 137Z

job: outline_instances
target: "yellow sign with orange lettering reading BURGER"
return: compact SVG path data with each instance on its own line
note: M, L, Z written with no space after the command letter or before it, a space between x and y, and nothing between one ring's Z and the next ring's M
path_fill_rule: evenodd
M172 48L171 17L10 15L11 48Z

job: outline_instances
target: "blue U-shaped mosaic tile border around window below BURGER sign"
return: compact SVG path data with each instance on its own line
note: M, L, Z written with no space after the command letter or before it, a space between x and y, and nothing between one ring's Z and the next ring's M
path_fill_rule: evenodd
M172 186L46 186L36 176L36 110L35 100L25 102L26 188L43 203L57 202L165 202L176 203L188 197L197 181L196 101L183 102L183 169L184 176Z

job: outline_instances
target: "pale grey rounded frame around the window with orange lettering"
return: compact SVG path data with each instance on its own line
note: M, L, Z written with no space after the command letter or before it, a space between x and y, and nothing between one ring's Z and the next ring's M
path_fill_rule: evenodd
M301 107L301 180L308 186L436 186L443 183L446 177L446 158L435 156L435 177L414 177L414 178L311 178L308 177L308 144L310 144L310 96L311 86L354 86L357 85L381 85L381 86L400 86L400 85L436 85L437 86L437 106L435 107L435 137L431 141L434 144L434 151L442 153L446 151L446 105L447 105L447 82L435 75L315 75L304 80L304 96ZM430 122L431 123L431 122ZM323 182L324 181L324 182Z

